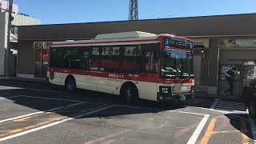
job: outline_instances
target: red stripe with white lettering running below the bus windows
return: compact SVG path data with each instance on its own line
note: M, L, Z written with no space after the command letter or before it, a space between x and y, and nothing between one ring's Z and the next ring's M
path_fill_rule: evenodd
M51 72L65 73L65 74L79 74L79 75L90 75L94 77L102 78L116 78L116 79L125 79L130 81L140 81L140 82L156 82L156 83L192 83L194 78L189 79L162 79L158 77L158 74L122 74L114 72L103 72L103 71L92 71L92 70L74 70L74 69L65 69L65 68L49 68Z

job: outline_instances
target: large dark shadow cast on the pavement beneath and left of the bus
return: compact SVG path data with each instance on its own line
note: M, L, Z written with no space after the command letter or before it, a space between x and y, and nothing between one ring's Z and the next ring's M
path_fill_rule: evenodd
M9 99L15 104L30 107L34 110L45 111L60 106L69 106L79 102L86 102L81 105L79 104L76 106L70 106L68 109L53 111L55 114L60 114L66 117L74 117L76 114L85 113L86 110L94 110L94 108L96 109L98 107L110 106L113 104L126 105L122 103L121 98L118 96L113 96L112 94L102 94L90 90L78 90L75 94L71 94L65 92L62 86L52 86L49 83L1 81L0 86L6 86L0 89L0 96L2 98ZM22 89L20 89L20 87ZM54 91L51 92L50 90ZM140 108L135 108L132 106L138 106ZM130 105L130 107L114 106L111 108L111 110L106 110L102 113L94 114L94 117L158 113L161 111L174 110L181 107L184 106L140 100L134 105Z

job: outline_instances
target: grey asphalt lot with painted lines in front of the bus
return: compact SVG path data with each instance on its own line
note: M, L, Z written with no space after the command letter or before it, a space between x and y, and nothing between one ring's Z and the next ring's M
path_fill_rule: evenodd
M254 143L245 110L207 98L126 105L110 94L2 80L0 143Z

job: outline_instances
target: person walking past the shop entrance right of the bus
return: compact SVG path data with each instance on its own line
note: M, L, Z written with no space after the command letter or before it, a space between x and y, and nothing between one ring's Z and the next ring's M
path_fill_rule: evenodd
M226 82L228 82L229 88L224 91L225 95L227 95L228 92L230 92L230 96L233 96L234 94L234 77L235 77L236 70L237 70L236 67L232 67L231 70L226 71Z

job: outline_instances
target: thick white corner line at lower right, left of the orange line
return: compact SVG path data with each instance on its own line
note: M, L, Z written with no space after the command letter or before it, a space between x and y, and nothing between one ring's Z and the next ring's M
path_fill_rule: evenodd
M186 114L193 114L193 113L186 112ZM194 114L196 114L196 113L194 113ZM206 122L207 122L209 116L210 116L209 114L205 114L205 116L202 118L201 122L199 122L197 128L194 130L194 133L191 135L187 144L194 144L195 142L197 142L198 136L202 132L202 128L206 125Z

